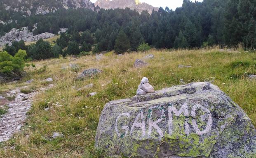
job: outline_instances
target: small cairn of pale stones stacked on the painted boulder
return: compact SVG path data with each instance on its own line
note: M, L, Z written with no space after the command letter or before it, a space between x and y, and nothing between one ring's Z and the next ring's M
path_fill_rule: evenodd
M137 94L138 95L145 95L147 93L155 93L155 89L153 86L151 86L149 83L148 83L148 78L146 77L143 77L142 80L141 80L141 84L138 86L138 89L137 89Z

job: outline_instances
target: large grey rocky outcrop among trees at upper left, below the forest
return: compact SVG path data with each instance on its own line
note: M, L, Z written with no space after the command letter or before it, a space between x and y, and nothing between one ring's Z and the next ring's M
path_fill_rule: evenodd
M28 27L22 27L20 29L13 28L10 32L6 33L5 36L0 37L0 47L5 46L5 44L12 45L12 41L38 41L40 38L48 39L50 37L54 37L55 34L51 34L48 32L33 35L32 32L28 30Z

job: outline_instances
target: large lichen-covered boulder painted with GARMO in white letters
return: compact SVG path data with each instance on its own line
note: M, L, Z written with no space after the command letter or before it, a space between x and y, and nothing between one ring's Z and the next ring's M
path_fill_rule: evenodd
M256 130L217 86L197 82L110 101L95 148L111 158L256 158Z

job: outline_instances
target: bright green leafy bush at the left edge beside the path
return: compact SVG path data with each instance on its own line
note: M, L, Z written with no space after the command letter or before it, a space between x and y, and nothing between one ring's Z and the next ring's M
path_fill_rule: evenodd
M14 57L6 51L0 52L0 73L12 74L15 73L21 76L24 67L27 53L26 50L19 50Z

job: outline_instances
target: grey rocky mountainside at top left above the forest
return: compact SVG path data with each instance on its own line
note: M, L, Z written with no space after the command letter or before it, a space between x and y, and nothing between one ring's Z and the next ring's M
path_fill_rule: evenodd
M46 14L61 8L94 9L94 4L90 0L2 0L0 5L4 6L7 11L20 11L27 16Z

